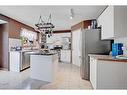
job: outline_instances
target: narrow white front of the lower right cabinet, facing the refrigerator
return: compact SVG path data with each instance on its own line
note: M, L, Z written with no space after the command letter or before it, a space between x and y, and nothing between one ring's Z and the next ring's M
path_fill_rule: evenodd
M96 89L96 80L97 80L97 77L96 77L97 66L96 65L97 65L97 60L90 57L90 82L94 89Z

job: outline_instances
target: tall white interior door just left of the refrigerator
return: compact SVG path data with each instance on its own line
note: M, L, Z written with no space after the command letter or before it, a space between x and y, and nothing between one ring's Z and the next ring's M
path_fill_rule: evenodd
M81 65L81 29L72 31L72 64Z

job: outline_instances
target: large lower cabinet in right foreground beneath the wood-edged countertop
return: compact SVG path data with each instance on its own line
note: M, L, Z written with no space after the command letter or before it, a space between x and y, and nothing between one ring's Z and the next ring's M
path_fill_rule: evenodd
M93 89L127 89L127 63L90 57Z

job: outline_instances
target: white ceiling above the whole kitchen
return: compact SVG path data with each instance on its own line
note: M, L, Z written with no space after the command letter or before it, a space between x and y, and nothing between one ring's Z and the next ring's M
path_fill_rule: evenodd
M70 19L70 9L74 11L74 18ZM70 29L83 20L96 19L106 6L0 6L0 13L35 27L40 14L46 21L52 14L52 23L55 30Z

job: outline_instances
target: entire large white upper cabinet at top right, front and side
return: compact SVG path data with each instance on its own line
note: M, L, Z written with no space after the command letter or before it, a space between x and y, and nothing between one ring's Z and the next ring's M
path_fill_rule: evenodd
M101 26L101 39L127 36L126 18L126 6L108 6L97 19L98 26Z

